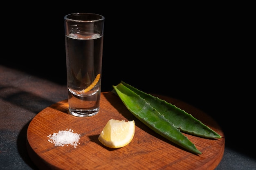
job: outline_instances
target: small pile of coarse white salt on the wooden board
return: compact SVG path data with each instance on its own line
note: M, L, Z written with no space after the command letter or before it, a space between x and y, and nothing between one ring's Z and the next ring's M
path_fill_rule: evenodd
M55 146L68 146L69 144L76 146L79 143L79 139L81 137L80 134L74 133L72 129L70 130L59 130L58 133L53 133L52 135L48 135L48 141L53 143Z

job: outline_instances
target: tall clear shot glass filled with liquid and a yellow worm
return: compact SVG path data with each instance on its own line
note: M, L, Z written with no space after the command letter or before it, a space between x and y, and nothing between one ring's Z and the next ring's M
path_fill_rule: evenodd
M105 18L94 13L64 16L69 113L89 117L99 112Z

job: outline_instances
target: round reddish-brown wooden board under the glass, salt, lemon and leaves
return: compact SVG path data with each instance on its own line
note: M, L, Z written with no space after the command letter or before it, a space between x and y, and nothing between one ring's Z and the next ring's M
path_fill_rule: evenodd
M202 121L221 139L186 135L202 152L193 154L173 144L139 121L121 99L112 92L102 92L100 111L92 117L68 114L67 99L38 113L27 129L27 150L31 160L42 170L214 170L224 154L225 138L220 126L201 110L177 99L158 96ZM135 135L127 146L111 149L98 140L108 120L135 121ZM81 135L80 144L55 146L50 134L72 129Z

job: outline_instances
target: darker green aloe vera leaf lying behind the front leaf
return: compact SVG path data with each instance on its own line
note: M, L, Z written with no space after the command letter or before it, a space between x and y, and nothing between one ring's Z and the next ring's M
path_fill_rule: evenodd
M170 121L176 128L179 128L182 132L186 132L192 135L206 138L221 138L221 136L204 125L201 121L193 117L186 111L177 108L175 105L170 104L158 97L154 97L148 93L138 90L137 88L130 86L129 84L121 81L131 91L135 92L141 98L145 99L153 108L157 110L159 114Z

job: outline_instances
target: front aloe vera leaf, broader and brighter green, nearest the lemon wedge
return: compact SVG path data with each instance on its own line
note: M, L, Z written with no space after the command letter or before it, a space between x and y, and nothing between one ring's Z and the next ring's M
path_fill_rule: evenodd
M157 113L157 110L139 95L121 83L113 87L126 108L146 126L178 146L195 154L202 154L179 129L175 128L168 120Z

